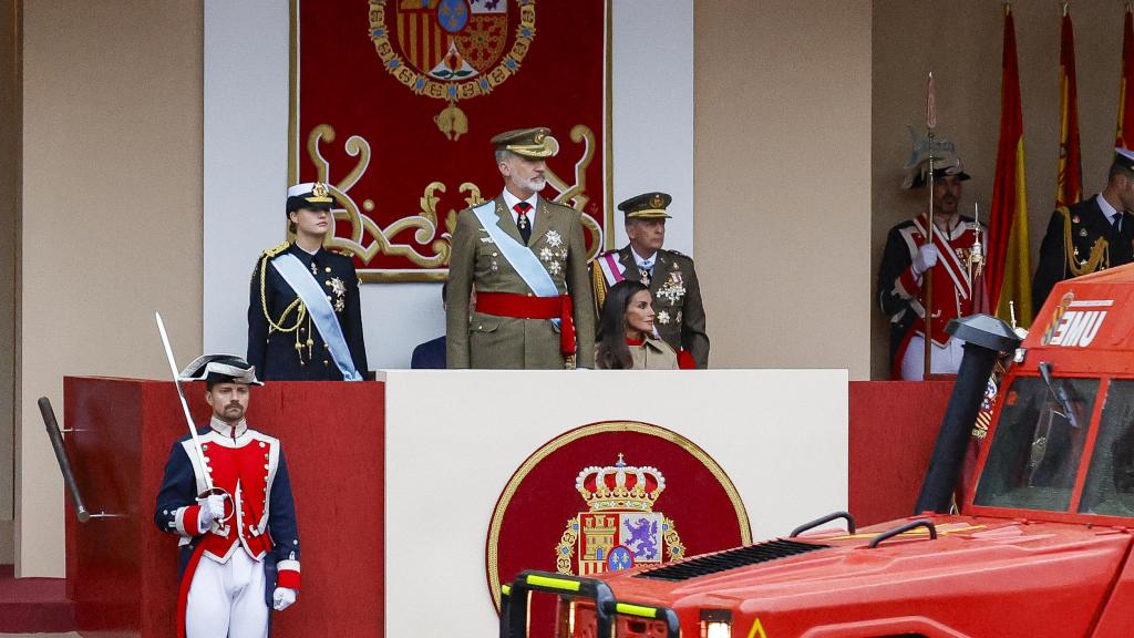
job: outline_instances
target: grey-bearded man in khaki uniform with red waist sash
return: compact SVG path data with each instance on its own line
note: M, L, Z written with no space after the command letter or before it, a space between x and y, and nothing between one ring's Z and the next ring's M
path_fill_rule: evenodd
M460 211L452 234L448 367L590 368L594 301L582 212L539 196L559 143L542 127L501 133L492 143L503 192Z

